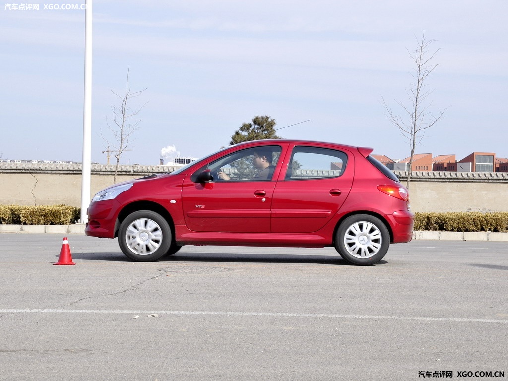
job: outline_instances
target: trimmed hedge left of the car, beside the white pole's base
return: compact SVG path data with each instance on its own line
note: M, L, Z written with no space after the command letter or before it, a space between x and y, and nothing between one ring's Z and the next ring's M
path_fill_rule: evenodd
M76 224L81 209L69 205L0 205L0 223L14 225Z

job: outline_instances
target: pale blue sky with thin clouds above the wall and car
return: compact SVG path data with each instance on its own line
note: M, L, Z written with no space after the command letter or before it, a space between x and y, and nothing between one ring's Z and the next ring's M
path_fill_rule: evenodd
M82 10L0 9L0 155L81 162ZM55 8L55 7L53 7ZM121 164L165 152L201 157L239 126L270 115L284 138L370 146L393 159L409 146L380 105L408 102L423 30L440 49L428 98L449 109L417 153L508 156L508 2L94 1L92 162L106 163L107 118L125 88L146 105ZM168 148L169 147L169 148Z

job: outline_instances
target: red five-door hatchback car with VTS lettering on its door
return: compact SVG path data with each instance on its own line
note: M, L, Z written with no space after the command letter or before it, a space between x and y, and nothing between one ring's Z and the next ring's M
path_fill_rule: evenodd
M157 261L182 245L335 246L355 265L409 242L407 189L372 148L258 140L95 195L85 234Z

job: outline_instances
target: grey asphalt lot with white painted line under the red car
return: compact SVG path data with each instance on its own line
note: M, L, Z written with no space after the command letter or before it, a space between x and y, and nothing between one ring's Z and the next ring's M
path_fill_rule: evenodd
M52 266L62 238L0 234L1 380L508 378L506 242L419 240L356 267L225 246L132 263L70 235L77 264ZM459 375L483 371L504 376Z

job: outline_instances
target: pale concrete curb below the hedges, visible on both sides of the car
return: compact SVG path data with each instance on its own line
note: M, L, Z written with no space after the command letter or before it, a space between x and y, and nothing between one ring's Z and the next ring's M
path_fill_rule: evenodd
M85 224L73 225L1 225L0 233L85 234ZM414 240L508 241L508 233L414 231Z

